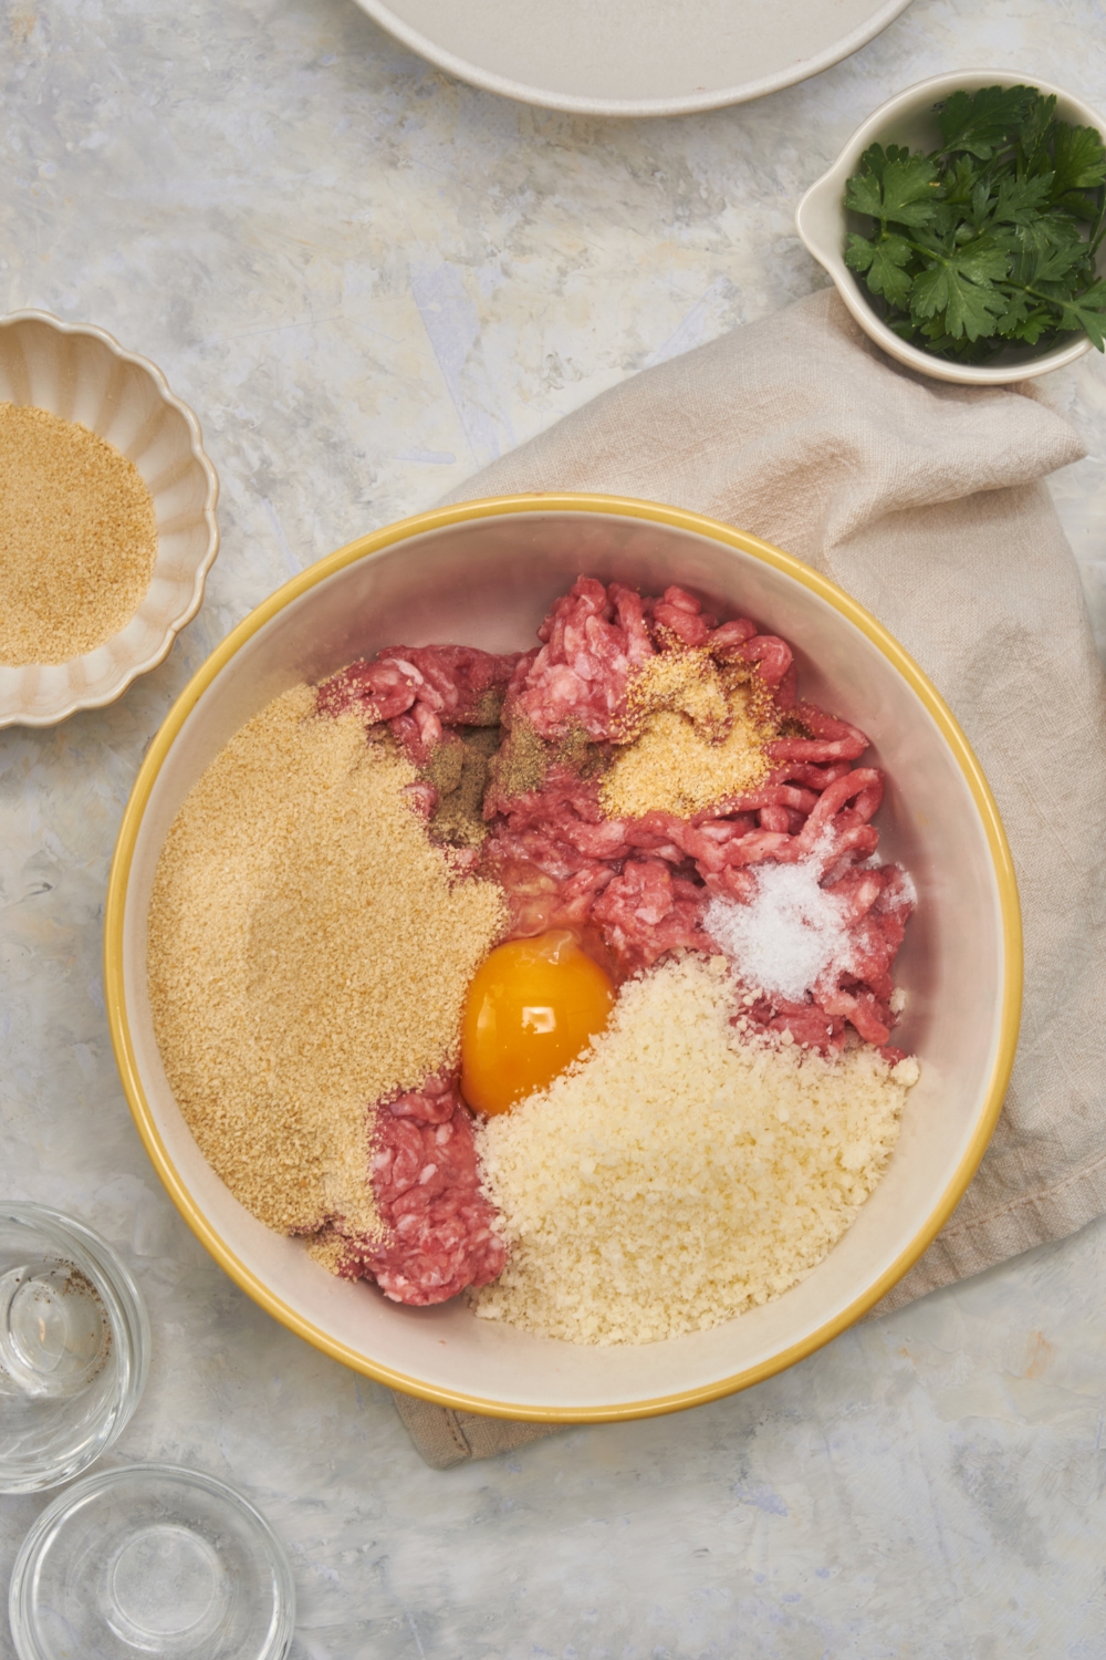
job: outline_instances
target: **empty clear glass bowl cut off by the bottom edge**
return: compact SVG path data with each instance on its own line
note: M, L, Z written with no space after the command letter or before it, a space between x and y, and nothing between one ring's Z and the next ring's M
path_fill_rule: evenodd
M272 1527L232 1487L128 1464L43 1511L8 1615L18 1660L282 1660L295 1587Z

